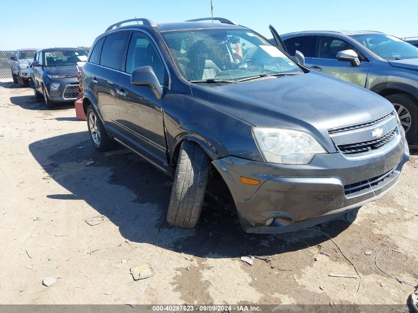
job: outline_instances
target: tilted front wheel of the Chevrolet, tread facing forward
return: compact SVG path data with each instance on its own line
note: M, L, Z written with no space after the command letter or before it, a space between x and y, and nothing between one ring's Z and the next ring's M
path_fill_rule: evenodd
M167 212L169 224L186 228L197 224L208 183L209 162L196 143L182 142Z

